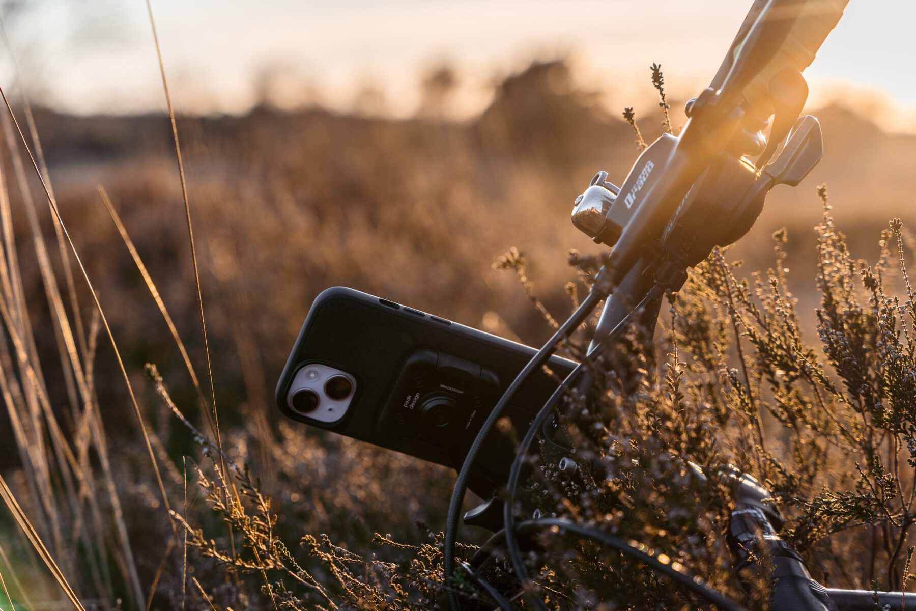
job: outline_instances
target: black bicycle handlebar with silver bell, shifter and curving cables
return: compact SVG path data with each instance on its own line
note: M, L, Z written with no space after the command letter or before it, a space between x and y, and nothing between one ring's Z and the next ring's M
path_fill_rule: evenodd
M616 189L605 183L606 174L602 176L599 173L590 188L600 191L600 196L596 196L597 199L585 198L586 193L583 193L576 201L573 221L577 213L582 214L582 223L577 225L596 242L613 245L614 249L595 276L588 299L509 385L478 432L459 472L449 506L444 541L446 578L454 573L458 519L466 474L476 458L475 449L485 439L515 389L539 366L538 358L555 349L562 337L577 327L599 300L611 294L595 332L594 352L600 352L609 344L606 340L613 336L612 330L617 328L617 323L628 316L627 311L632 311L633 305L648 296L649 286L678 289L679 282L682 284L686 278L687 267L705 258L715 245L730 243L723 240L736 239L734 227L730 227L731 233L716 234L714 229L708 228L703 235L692 233L681 242L669 240L671 231L689 233L684 227L691 226L690 223L677 223L687 218L695 225L695 221L702 217L697 213L708 212L700 210L703 205L708 208L718 199L728 202L723 212L729 215L719 219L722 224L727 221L740 225L751 216L756 219L763 198L773 185L780 181L797 184L820 159L820 129L816 120L806 117L796 124L793 132L789 128L801 114L807 96L807 85L800 72L811 64L824 39L843 15L847 3L848 0L755 0L712 86L693 102L681 134L662 136L653 143L638 158L622 188ZM788 96L789 101L781 101L780 107L780 104L774 103L770 83L780 81L785 75L783 73L794 75L794 81L790 79L788 82L790 85L801 83L803 87L799 91L803 95ZM780 78L774 81L778 75ZM783 137L788 137L783 153L789 150L791 158L783 159L780 165L780 155L780 159L770 166L772 171L761 172L762 168L755 168L742 155L755 149L762 141L762 136L755 132L761 124L766 125L774 113L773 138L781 141ZM784 131L778 128L780 125L785 128ZM769 160L768 151L763 147L754 154L761 153L761 158ZM761 166L766 164L760 159L758 162ZM787 164L791 168L784 167ZM697 191L714 198L703 199ZM693 206L696 202L699 203ZM709 227L708 224L705 226ZM658 247L652 250L649 245ZM640 292L643 294L638 294ZM657 314L658 304L643 305L646 311ZM590 349L589 353L592 352ZM746 498L744 502L745 506L739 504L733 516L735 520L729 537L735 542L736 551L742 545L757 545L760 542L769 548L776 567L774 575L778 580L773 600L776 611L834 611L837 608L854 611L874 606L874 595L870 592L827 590L813 582L802 557L772 528L770 520L778 519L778 512L768 510L759 498ZM510 502L505 508L507 547L525 591L529 577L518 557L515 542L517 525L512 513L514 507ZM571 530L575 529L571 527ZM762 538L761 531L764 533ZM590 532L587 536L598 540L598 534ZM738 555L740 557L740 553ZM457 593L449 591L448 595L453 611L458 611ZM879 601L887 600L891 608L895 608L895 599L900 601L900 606L909 602L911 608L916 608L916 595L894 593L877 596ZM532 602L543 608L540 600L532 599Z

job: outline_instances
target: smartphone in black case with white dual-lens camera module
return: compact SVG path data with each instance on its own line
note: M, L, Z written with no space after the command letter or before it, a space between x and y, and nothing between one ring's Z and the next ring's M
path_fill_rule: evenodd
M537 351L354 289L314 301L277 385L289 418L455 469L486 417ZM575 363L557 356L560 378ZM557 387L530 376L504 411L525 431ZM488 435L470 478L479 496L505 484L516 441ZM519 433L516 432L516 436Z

